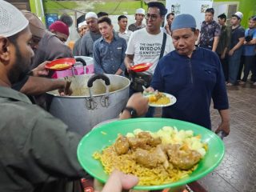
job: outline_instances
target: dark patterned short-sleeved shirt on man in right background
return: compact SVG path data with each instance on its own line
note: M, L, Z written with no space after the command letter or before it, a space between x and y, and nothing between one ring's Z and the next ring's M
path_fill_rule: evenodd
M220 34L221 26L217 22L206 23L206 21L203 21L200 31L200 46L212 47L214 45L214 37L218 37Z

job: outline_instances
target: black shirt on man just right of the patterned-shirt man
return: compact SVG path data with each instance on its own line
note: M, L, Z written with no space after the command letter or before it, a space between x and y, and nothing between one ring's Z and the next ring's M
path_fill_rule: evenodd
M216 49L217 54L222 54L225 48L230 46L230 28L228 26L222 26L221 35L218 40L218 46Z

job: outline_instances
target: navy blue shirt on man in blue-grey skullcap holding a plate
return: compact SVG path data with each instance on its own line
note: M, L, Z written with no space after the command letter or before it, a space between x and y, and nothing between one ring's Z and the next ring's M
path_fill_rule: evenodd
M154 90L173 94L177 102L162 109L163 118L176 118L211 129L210 102L214 108L229 108L225 78L217 54L197 48L191 58L176 50L166 54L154 71Z

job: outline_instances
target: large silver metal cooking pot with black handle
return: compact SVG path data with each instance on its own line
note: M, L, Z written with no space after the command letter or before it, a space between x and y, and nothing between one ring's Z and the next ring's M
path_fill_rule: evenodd
M130 80L114 74L83 74L69 77L71 96L58 91L46 94L46 110L62 119L70 130L88 133L99 122L118 118L129 98Z

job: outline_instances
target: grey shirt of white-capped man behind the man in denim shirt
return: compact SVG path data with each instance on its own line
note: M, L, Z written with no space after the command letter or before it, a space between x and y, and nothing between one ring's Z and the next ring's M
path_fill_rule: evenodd
M102 37L100 33L93 33L88 31L81 40L81 51L80 54L82 56L93 57L93 50L94 50L94 42Z

